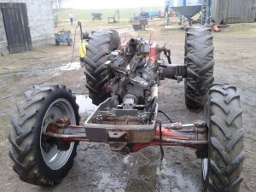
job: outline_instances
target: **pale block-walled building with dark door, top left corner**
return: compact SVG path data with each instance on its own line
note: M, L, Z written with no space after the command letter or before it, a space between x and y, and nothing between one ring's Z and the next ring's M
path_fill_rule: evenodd
M0 0L0 8L0 53L19 53L53 41L51 0Z

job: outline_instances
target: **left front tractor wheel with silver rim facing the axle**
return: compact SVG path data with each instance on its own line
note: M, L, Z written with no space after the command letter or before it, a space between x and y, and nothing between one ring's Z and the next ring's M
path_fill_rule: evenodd
M9 134L12 145L9 156L14 161L13 169L26 183L60 183L73 166L78 143L63 147L44 133L50 123L63 116L72 125L79 125L79 106L64 85L38 85L27 90L25 96L11 121L14 131Z

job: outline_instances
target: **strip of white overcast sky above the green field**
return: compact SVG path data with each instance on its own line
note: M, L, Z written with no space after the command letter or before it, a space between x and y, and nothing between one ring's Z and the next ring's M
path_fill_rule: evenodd
M165 0L74 0L73 9L124 9L164 7Z

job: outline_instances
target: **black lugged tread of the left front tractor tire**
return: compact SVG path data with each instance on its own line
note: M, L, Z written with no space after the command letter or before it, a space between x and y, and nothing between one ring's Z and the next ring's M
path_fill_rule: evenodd
M17 113L11 119L14 131L9 133L9 143L11 143L12 149L9 151L9 157L14 161L13 169L22 181L26 183L32 183L36 185L53 185L60 183L61 178L49 179L44 174L39 173L40 167L37 164L37 155L34 149L34 126L37 123L38 113L40 108L44 106L49 93L53 90L67 91L72 96L71 90L68 90L65 85L37 85L32 90L25 92L25 101L20 102L17 106ZM79 110L79 106L75 104L76 109ZM36 117L35 117L36 116ZM78 120L78 119L77 119ZM77 143L75 144L76 148ZM73 157L76 153L73 153ZM71 169L71 165L67 166L67 172ZM67 174L63 174L61 177L65 177Z

